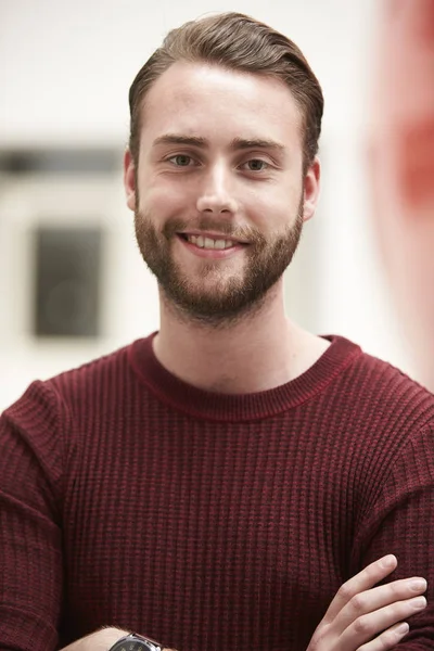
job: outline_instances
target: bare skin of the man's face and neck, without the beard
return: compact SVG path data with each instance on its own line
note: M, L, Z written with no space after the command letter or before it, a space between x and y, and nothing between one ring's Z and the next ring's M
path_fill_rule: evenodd
M318 159L303 177L301 122L296 102L276 79L176 63L146 95L137 168L126 153L127 204L159 231L178 218L197 232L206 217L215 227L204 234L221 237L230 227L242 237L255 229L272 242L294 226L299 207L302 219L309 219L319 196ZM201 138L204 145L162 143L169 133ZM235 139L277 146L233 149ZM174 163L180 155L196 164L179 168ZM252 171L252 161L264 161L264 169ZM192 290L208 293L224 292L230 279L242 281L246 248L234 247L224 259L203 258L178 238L171 241L173 259ZM209 264L214 272L206 273ZM278 386L307 370L327 346L286 319L282 279L253 312L219 328L186 318L161 291L155 354L201 388L246 393Z

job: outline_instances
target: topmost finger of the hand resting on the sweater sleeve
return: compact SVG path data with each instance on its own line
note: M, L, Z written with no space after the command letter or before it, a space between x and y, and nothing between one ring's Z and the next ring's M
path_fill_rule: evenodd
M329 605L322 621L324 623L332 622L355 595L372 588L380 580L388 576L396 569L397 564L398 561L395 556L385 556L344 583Z

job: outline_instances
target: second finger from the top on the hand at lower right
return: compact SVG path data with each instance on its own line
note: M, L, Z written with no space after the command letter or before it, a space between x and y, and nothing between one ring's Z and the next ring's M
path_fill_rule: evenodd
M422 595L426 590L426 580L419 576L401 578L384 586L378 586L352 597L335 617L335 629L345 630L362 615L381 611L395 602L405 602Z

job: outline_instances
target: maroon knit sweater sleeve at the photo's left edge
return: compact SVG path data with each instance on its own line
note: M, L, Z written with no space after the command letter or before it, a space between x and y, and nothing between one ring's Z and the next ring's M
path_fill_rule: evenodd
M0 649L51 651L62 600L59 406L36 382L0 419Z

